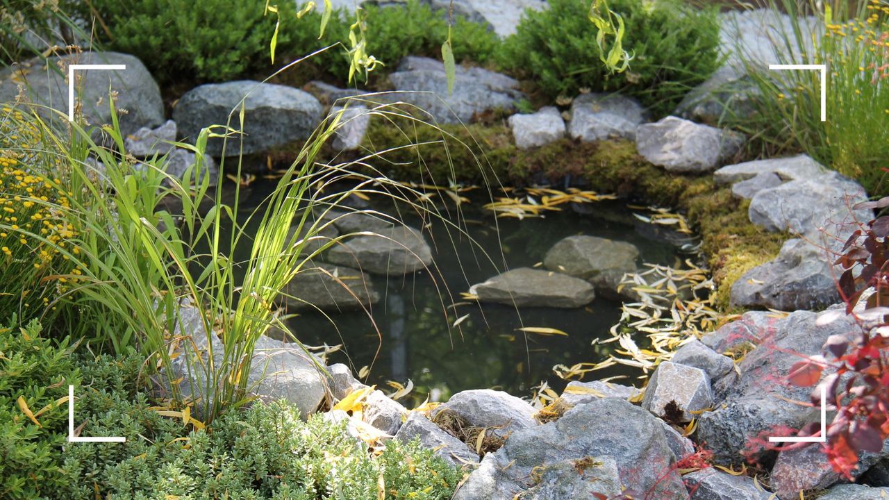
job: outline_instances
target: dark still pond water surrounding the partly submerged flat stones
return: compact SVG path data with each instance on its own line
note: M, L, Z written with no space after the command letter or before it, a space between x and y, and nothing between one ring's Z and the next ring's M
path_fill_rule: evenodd
M252 186L244 206L256 206L268 189ZM251 203L251 198L254 203ZM505 268L532 267L562 238L589 235L627 241L639 249L638 263L676 265L683 255L677 246L642 230L632 210L620 201L600 201L540 218L497 218L484 210L485 199L462 204L461 227L466 235L448 230L445 222L425 221L436 270L402 276L372 276L380 302L364 310L303 312L289 319L288 327L308 345L341 344L329 363L346 363L357 374L369 367L364 383L386 385L394 380L414 383L412 399L445 400L457 391L496 388L516 395L547 381L560 390L552 372L557 364L572 366L607 357L615 343L591 345L610 336L621 316L621 303L597 299L578 309L521 308L467 302L461 292L499 274ZM395 214L392 202L372 208ZM576 210L580 209L580 210ZM420 228L424 221L410 209L398 212L404 223ZM452 205L452 214L453 211ZM648 226L651 228L651 226ZM485 257L481 249L489 255ZM244 253L241 249L236 254ZM493 262L491 262L493 261ZM453 305L456 303L456 305ZM453 323L463 316L459 327ZM520 327L551 327L562 335L525 334ZM597 378L626 375L634 383L639 373L620 365L596 372Z

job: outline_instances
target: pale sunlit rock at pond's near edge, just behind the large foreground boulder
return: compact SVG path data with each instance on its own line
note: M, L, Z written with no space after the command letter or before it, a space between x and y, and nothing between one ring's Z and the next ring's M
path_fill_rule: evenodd
M537 412L527 401L491 389L458 392L430 415L436 420L442 412L458 415L470 425L491 428L494 434L503 437L537 425L534 420Z

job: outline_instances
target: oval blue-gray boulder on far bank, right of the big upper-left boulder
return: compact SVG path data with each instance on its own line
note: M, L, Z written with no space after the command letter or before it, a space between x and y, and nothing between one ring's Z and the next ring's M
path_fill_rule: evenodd
M228 140L226 156L262 153L293 141L308 139L321 121L321 103L310 93L285 85L251 80L199 85L183 95L173 119L181 137L194 141L201 129L229 124L240 127L238 113L244 100L243 149L241 137ZM206 152L222 156L221 139L207 141Z

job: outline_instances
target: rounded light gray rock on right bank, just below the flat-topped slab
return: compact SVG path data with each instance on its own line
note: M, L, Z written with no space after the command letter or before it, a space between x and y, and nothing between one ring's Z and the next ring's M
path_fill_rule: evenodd
M760 190L750 200L750 222L770 231L787 230L811 238L820 230L829 235L844 235L853 215L868 221L869 210L851 211L867 195L861 184L839 173L788 181L775 188Z

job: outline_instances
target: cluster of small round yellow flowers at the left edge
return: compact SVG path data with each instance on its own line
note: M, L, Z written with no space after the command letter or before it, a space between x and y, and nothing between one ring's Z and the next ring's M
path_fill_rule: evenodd
M30 307L81 274L65 254L79 254L78 233L65 218L71 193L50 174L58 164L39 151L36 126L17 110L0 111L0 279L20 287L20 303Z

